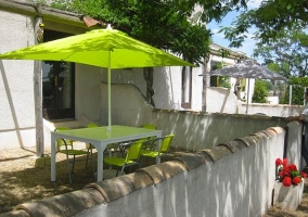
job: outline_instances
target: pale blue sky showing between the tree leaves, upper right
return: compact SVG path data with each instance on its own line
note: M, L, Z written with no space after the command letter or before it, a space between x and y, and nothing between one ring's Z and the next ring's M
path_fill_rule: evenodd
M254 8L258 8L258 5L260 4L261 0L249 0L249 2L247 3L248 9L254 9ZM220 26L230 26L232 21L236 18L236 16L240 14L240 12L233 11L227 14L227 16L224 16L224 18L217 24L215 21L207 24L207 28L209 28L211 30L213 35L213 41L219 46L223 46L226 48L229 48L230 41L228 39L224 39L223 33L218 33L218 30L220 29ZM245 40L245 42L243 43L243 46L241 48L230 48L233 51L241 51L246 53L247 56L252 56L253 54L253 50L255 47L256 41L252 38L253 34L254 34L255 29L251 28L248 30L247 34L247 38ZM260 60L258 60L259 62ZM261 62L259 62L261 63Z

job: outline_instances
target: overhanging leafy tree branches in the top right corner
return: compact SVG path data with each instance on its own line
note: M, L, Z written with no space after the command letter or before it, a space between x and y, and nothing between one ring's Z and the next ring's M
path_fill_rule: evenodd
M279 37L283 29L291 28L297 23L301 28L308 24L307 0L262 0L258 9L243 11L231 26L221 28L230 47L239 48L247 37L249 27L258 29L257 37L260 42Z

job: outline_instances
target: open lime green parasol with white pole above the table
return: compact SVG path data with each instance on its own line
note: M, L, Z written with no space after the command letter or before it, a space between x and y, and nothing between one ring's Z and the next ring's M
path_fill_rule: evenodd
M40 43L0 54L0 59L66 61L108 69L108 130L111 128L111 69L155 66L193 66L175 55L112 28Z

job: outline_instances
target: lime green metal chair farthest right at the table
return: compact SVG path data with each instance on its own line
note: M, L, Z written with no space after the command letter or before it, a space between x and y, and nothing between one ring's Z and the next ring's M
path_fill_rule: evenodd
M167 152L169 151L169 148L170 148L170 144L171 144L174 137L175 137L175 135L167 135L167 136L162 137L162 138L149 140L147 142L145 142L145 143L147 143L145 145L150 145L151 146L150 150L149 149L146 149L146 150L142 149L140 155L145 156L145 157L155 158L156 164L159 164L161 157L165 156L167 154ZM158 150L155 150L155 144L156 144L156 146L158 146L157 142L159 142L159 141L161 141L161 146L159 146Z

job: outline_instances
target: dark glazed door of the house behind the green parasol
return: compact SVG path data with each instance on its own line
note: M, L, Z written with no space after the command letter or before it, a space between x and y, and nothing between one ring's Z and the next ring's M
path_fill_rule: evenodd
M46 30L44 41L68 35ZM68 62L42 62L42 108L46 119L75 118L75 64Z

